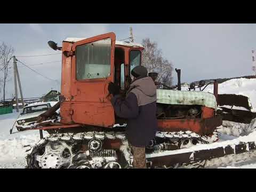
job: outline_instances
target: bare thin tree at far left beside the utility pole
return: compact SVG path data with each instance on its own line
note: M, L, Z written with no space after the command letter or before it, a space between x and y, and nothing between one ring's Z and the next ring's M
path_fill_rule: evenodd
M7 45L6 43L2 43L0 45L0 71L3 73L3 96L5 100L5 86L7 82L7 77L9 76L9 71L11 69L11 58L12 54L14 52L14 49L11 45ZM1 82L1 81L0 81Z

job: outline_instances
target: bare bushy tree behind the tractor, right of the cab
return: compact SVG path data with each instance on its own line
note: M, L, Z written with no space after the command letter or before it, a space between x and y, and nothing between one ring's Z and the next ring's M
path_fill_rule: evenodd
M148 72L158 73L157 81L166 85L172 85L173 66L170 61L164 59L162 51L157 48L156 42L150 42L149 38L142 39L143 50L142 65Z

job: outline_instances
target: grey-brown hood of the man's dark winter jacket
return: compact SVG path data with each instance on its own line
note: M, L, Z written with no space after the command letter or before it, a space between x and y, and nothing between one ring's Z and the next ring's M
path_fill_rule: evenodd
M140 90L149 97L155 97L156 95L156 85L151 77L135 79L135 81L131 84L130 90L134 88Z

